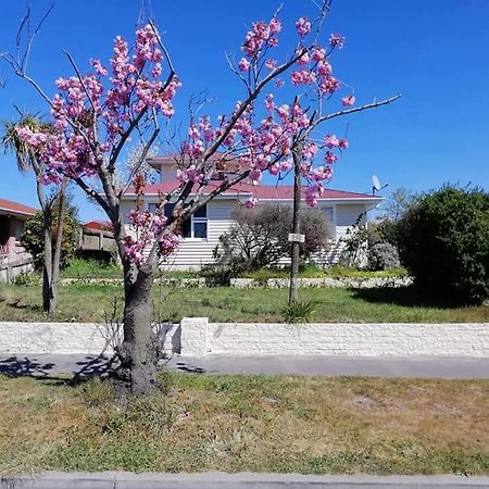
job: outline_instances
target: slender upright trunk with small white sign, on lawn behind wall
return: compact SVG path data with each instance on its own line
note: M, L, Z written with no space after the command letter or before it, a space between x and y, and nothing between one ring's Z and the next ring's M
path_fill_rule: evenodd
M301 209L301 151L299 146L293 150L293 210L292 210L292 233L298 235L301 231L300 209ZM297 302L299 289L299 260L300 242L292 241L290 253L290 288L289 304Z

